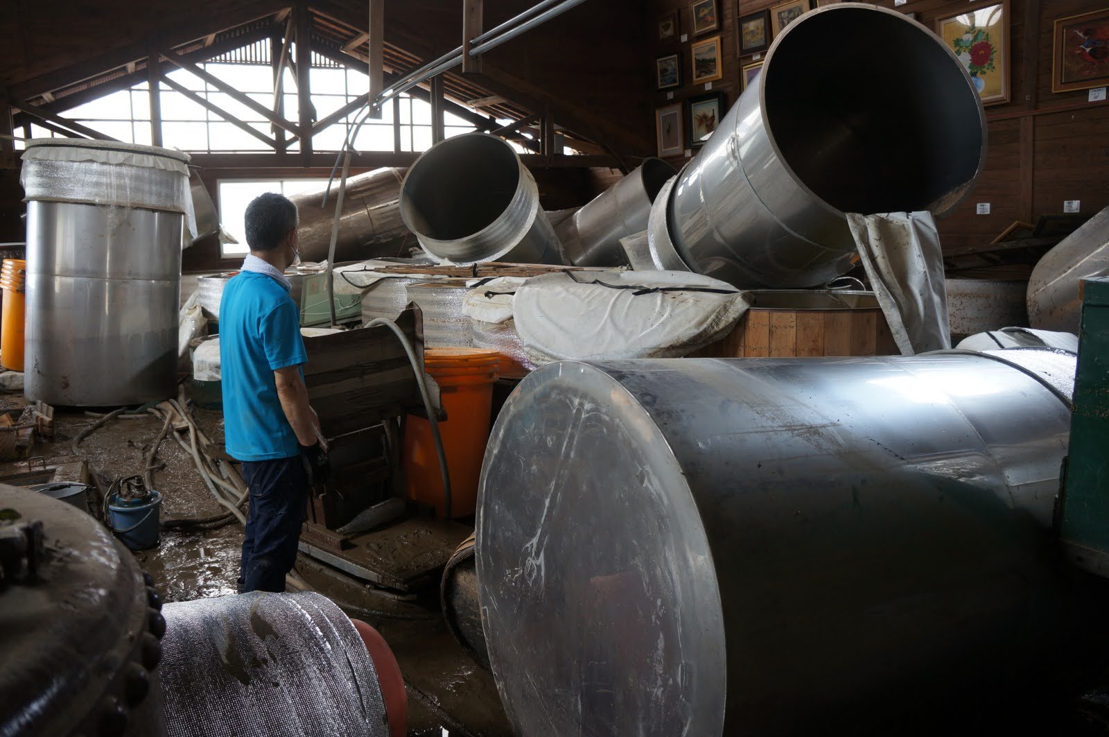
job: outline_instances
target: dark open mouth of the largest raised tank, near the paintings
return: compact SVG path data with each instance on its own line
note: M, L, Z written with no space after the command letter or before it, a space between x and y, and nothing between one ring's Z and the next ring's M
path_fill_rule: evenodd
M936 38L904 18L871 8L802 18L762 82L782 159L841 212L942 214L981 163L977 93Z

